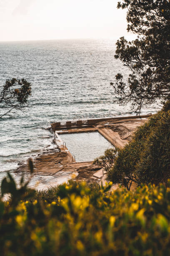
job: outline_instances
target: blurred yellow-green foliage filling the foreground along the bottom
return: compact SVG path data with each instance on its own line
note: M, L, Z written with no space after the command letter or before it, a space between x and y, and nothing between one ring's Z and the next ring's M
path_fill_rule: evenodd
M72 182L55 188L50 203L1 201L2 255L169 255L170 183L110 187Z

